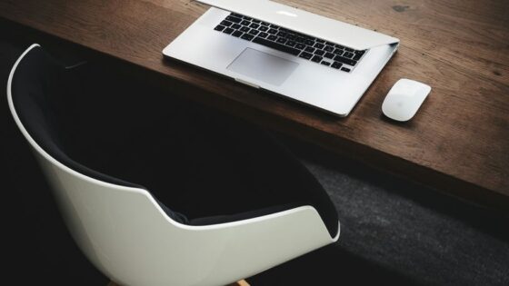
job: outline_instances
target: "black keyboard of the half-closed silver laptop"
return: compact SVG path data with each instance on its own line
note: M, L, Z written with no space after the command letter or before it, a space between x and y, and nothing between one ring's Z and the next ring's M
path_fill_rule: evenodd
M235 13L226 16L215 27L215 31L293 54L316 64L324 64L345 73L350 73L366 52L326 42Z

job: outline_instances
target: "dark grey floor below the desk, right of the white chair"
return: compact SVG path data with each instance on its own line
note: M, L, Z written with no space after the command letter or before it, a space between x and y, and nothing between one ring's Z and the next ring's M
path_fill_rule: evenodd
M341 237L252 281L509 285L506 218L303 143L289 145L332 197Z

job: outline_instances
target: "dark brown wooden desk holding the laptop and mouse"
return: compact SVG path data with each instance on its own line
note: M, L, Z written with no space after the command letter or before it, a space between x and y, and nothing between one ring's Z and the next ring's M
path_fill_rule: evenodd
M235 84L161 51L207 8L188 0L0 0L7 22L115 57L173 93L492 207L509 206L509 2L281 1L401 39L345 119ZM381 113L399 78L433 87L409 123ZM412 190L408 190L412 192Z

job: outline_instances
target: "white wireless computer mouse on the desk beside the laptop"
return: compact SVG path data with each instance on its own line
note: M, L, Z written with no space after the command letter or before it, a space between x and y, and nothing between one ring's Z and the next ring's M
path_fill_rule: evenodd
M414 117L430 92L431 86L402 78L385 96L382 112L395 121L408 121Z

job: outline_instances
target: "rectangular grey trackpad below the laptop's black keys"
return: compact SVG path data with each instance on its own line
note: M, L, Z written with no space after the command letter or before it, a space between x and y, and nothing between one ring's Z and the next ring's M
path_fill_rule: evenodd
M272 54L246 48L227 69L266 84L281 85L298 65Z

